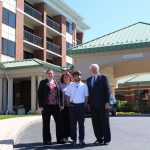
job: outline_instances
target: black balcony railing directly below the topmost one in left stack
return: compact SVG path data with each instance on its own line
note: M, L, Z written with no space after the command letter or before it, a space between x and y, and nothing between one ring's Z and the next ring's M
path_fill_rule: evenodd
M42 47L42 38L24 30L24 40Z

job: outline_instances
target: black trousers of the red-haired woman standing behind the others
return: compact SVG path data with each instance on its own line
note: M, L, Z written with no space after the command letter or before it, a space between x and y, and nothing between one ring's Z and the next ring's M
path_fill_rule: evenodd
M65 106L64 110L62 110L61 113L62 113L63 137L64 138L71 137L69 108Z

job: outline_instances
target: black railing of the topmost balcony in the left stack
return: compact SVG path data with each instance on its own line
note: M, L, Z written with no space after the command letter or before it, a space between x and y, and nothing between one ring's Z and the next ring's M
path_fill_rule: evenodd
M42 13L40 13L39 11L32 8L31 6L29 6L26 3L24 4L24 12L26 12L30 16L36 18L37 20L42 21Z

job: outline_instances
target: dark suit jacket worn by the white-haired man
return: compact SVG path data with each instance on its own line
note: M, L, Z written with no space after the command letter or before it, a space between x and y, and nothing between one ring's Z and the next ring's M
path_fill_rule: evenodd
M110 85L105 75L98 75L94 86L91 85L92 77L87 79L89 90L89 104L92 107L105 109L105 104L109 103Z

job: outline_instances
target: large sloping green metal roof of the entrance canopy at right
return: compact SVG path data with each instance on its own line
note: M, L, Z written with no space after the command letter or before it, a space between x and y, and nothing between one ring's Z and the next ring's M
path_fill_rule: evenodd
M74 48L68 55L150 47L150 24L138 22Z

